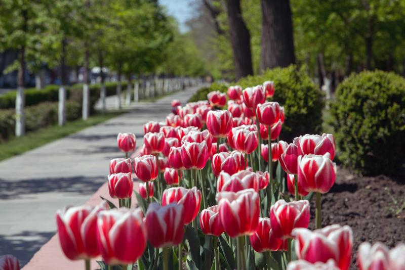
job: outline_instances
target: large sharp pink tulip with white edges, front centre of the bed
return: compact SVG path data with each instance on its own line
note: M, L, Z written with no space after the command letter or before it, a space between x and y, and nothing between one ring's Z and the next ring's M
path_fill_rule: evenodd
M218 212L225 233L235 238L251 235L259 224L260 199L253 190L217 193Z

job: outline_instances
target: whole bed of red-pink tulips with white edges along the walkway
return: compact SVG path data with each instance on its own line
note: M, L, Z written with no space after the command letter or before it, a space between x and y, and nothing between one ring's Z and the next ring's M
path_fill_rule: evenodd
M144 125L144 145L134 159L128 156L135 135L118 134L126 158L111 160L108 176L118 207L105 199L95 208L58 211L68 258L85 259L89 267L101 254L102 269L136 263L164 270L349 268L351 229L321 228L320 196L336 178L332 134L279 141L285 110L266 101L272 82L230 86L227 94L228 103L220 92L185 106L173 101L165 122ZM137 191L133 173L141 182ZM133 194L138 208L131 208ZM313 195L316 230L310 231ZM404 244L391 251L362 244L358 267L404 269L404 252Z

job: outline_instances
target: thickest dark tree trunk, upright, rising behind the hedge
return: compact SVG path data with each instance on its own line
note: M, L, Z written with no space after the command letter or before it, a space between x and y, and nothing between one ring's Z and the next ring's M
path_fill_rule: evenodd
M261 0L262 43L260 69L295 63L290 0Z

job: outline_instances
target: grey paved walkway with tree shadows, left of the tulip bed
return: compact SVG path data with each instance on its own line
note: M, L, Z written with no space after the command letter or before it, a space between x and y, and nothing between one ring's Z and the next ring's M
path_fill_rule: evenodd
M24 265L56 232L55 212L80 205L106 182L108 162L123 156L118 132L134 132L143 144L143 124L163 121L172 99L185 103L199 87L154 103L135 103L129 113L0 162L0 255Z

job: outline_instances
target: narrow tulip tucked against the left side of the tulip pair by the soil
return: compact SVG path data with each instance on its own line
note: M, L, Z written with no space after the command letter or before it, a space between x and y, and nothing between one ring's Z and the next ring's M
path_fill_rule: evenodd
M285 172L298 174L298 156L298 147L295 143L278 142L278 161Z

